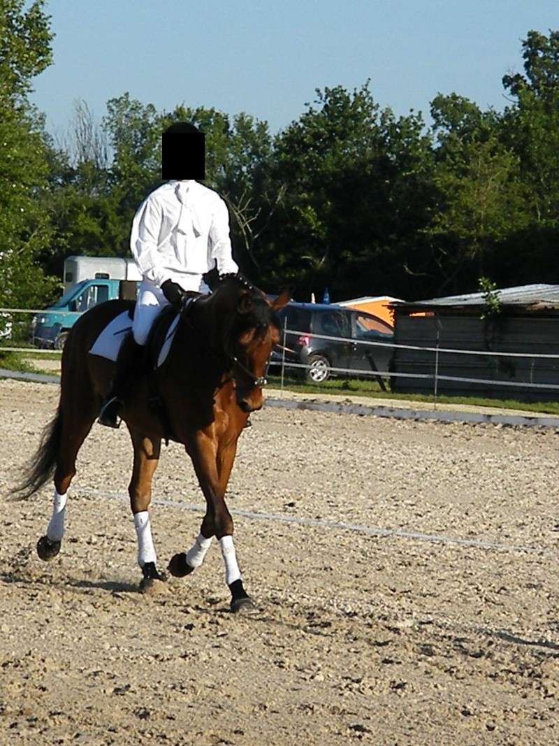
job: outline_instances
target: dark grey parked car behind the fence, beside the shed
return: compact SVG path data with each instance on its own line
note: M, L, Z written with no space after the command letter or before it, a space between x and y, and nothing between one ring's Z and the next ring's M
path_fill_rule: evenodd
M285 355L286 364L309 366L291 370L303 372L314 383L332 375L347 375L332 370L336 368L351 369L355 377L389 370L393 348L357 344L394 341L394 330L378 316L336 304L289 303L279 317L282 329L285 324L290 333L285 335L285 351L272 353L271 366L281 365ZM338 337L339 341L320 339L316 334Z

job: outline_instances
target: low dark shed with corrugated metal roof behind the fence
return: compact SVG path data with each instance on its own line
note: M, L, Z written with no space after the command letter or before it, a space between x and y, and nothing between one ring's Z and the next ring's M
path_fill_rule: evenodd
M392 304L395 344L418 348L395 348L393 372L422 376L396 375L392 390L433 393L436 379L438 392L445 394L559 399L559 357L536 357L559 356L559 285L499 289L494 297L499 301L498 313L488 313L487 295L482 292ZM528 357L517 357L520 353Z

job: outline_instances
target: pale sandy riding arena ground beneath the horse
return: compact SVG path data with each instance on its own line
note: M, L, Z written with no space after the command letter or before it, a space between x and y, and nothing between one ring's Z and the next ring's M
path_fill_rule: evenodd
M215 546L137 591L124 429L94 426L63 551L38 559L51 489L9 495L56 401L0 382L0 744L559 742L554 430L256 414L228 496L260 514L235 515L243 616ZM164 566L202 507L177 444L154 497Z

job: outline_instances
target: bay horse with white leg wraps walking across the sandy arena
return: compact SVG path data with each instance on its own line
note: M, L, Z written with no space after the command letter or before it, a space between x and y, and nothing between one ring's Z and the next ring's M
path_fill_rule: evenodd
M233 518L224 495L239 435L249 413L262 407L265 369L273 346L279 342L277 311L288 300L285 291L268 301L244 278L227 275L211 295L199 295L188 307L183 306L162 366L149 373L144 366L130 383L122 419L134 450L128 492L142 589L165 579L157 570L148 507L161 441L171 433L171 439L182 443L192 459L206 498L206 513L194 545L188 553L175 554L168 570L177 577L191 573L202 564L212 536L216 536L232 611L253 605L243 588L233 545ZM89 354L89 350L107 324L125 310L133 313L133 307L133 301L124 300L93 307L80 316L64 345L57 413L45 427L37 454L18 488L27 498L54 476L51 519L37 543L42 560L51 560L60 551L66 492L75 475L75 460L113 377L115 364ZM149 406L153 380L165 417Z

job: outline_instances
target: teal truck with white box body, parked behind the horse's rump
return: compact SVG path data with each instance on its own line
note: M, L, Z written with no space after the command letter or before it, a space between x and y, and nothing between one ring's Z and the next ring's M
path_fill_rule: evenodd
M31 321L34 345L61 350L82 313L115 298L135 299L140 277L131 262L113 257L68 257L64 265L66 292ZM71 272L74 278L80 274L93 277L71 283Z

